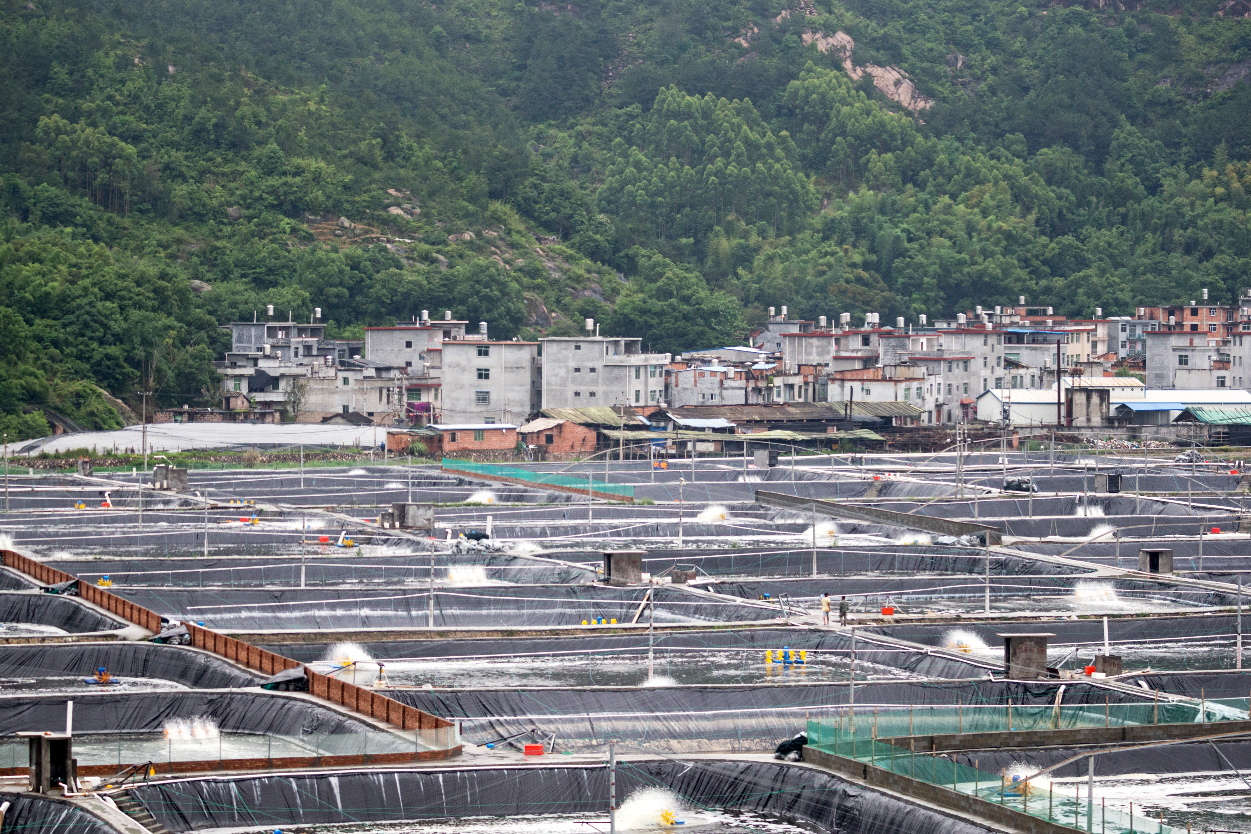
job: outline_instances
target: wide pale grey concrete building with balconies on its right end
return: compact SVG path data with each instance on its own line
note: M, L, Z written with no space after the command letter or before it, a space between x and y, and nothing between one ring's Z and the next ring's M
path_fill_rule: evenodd
M592 335L540 339L540 361L535 365L543 408L663 403L664 371L672 354L643 353L642 341Z

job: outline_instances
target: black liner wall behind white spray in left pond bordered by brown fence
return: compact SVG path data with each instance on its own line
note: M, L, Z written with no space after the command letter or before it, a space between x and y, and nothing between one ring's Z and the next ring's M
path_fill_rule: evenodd
M150 733L175 718L209 716L223 731L273 735L375 731L369 724L299 698L260 691L143 691L0 696L0 734L65 728L74 701L76 733ZM6 825L8 828L8 825Z

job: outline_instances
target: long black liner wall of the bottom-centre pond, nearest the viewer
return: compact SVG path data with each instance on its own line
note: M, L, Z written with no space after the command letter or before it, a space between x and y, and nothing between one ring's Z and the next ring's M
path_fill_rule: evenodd
M748 810L844 834L975 834L955 815L801 765L767 761L620 761L617 795L663 788L694 808ZM600 766L458 768L194 779L131 789L174 831L388 823L464 816L608 816Z

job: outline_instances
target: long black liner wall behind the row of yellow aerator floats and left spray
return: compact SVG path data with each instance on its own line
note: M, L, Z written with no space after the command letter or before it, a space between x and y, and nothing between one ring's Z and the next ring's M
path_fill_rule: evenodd
M332 644L283 643L259 644L276 654L313 663L325 658ZM363 643L362 646L377 660L394 658L464 658L474 656L532 656L550 658L559 664L565 658L629 656L646 654L647 633L605 634L577 638L469 638L453 640L397 640ZM659 656L672 651L743 651L753 661L766 649L788 646L794 650L837 651L846 658L851 649L851 636L837 631L806 629L733 629L707 631L659 631L654 635L654 649ZM856 641L857 658L883 666L892 666L916 675L937 679L982 678L991 668L1002 664L995 660L948 658L926 651L909 651L886 643L864 639ZM809 658L816 661L817 658Z

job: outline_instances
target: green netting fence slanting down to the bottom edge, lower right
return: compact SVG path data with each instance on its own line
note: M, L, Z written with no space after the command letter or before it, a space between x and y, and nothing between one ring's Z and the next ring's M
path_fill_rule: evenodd
M856 719L858 731L853 731L847 718L809 720L808 746L1092 834L1171 834L1176 830L1148 816L1107 808L1102 799L1083 795L1085 785L1081 784L1075 784L1072 793L1061 793L1046 778L1032 783L1010 780L1006 773L983 773L960 764L955 756L913 753L878 741L873 738L873 716L861 715Z

